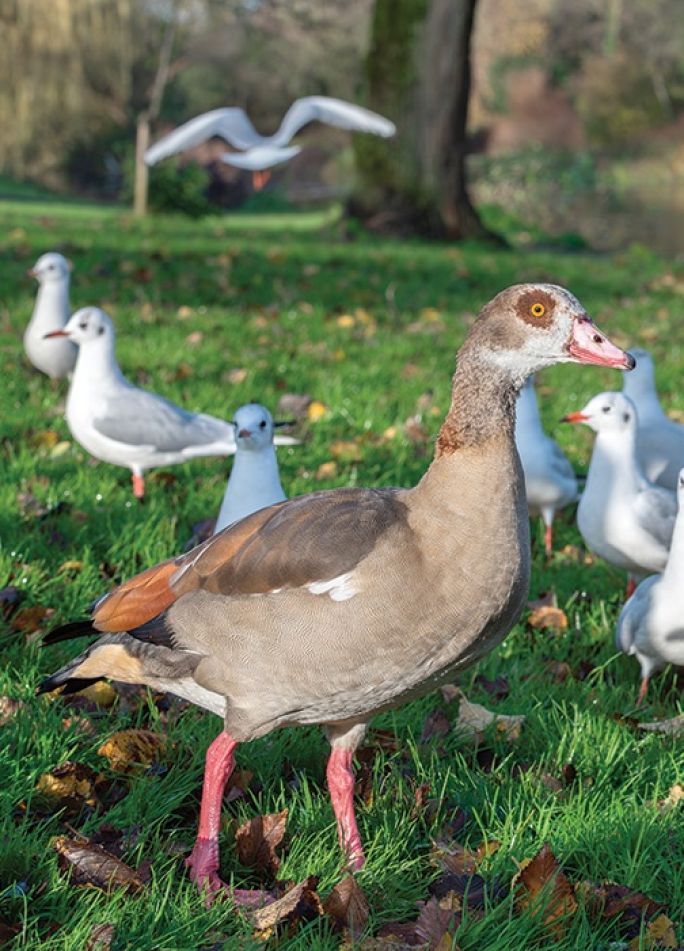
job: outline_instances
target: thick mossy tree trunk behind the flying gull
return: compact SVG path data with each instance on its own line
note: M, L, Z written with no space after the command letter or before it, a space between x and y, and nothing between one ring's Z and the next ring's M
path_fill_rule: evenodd
M496 239L465 176L470 38L477 0L376 0L368 105L398 127L357 136L352 215L368 227L439 238Z

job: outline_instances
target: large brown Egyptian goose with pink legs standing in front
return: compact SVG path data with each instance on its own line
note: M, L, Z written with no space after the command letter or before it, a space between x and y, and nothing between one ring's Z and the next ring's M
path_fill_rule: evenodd
M48 638L103 635L39 691L112 677L223 718L188 859L200 890L225 887L218 832L236 745L284 726L325 728L340 843L361 868L352 757L368 721L488 653L525 604L529 522L515 399L530 373L560 362L633 365L567 290L502 291L460 350L451 408L415 488L336 489L262 509L127 581L91 621Z

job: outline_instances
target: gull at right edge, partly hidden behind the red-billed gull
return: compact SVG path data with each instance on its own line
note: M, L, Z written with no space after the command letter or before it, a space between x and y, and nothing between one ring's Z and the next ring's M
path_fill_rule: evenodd
M655 387L653 357L647 350L631 350L637 365L625 379L622 392L637 410L637 453L644 472L666 489L675 490L684 466L684 426L663 412Z

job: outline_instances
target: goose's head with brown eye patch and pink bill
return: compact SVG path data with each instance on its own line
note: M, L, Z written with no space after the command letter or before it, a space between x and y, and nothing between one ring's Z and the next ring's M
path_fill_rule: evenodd
M634 358L601 333L577 298L556 284L501 291L480 313L463 349L470 344L519 385L555 363L634 366Z

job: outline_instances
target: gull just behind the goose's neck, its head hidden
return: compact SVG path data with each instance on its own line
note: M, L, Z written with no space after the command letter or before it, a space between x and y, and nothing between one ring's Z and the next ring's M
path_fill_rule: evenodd
M577 479L560 447L542 428L531 376L518 396L515 443L525 475L527 507L530 515L541 515L544 520L544 547L550 555L554 516L558 509L577 501Z

